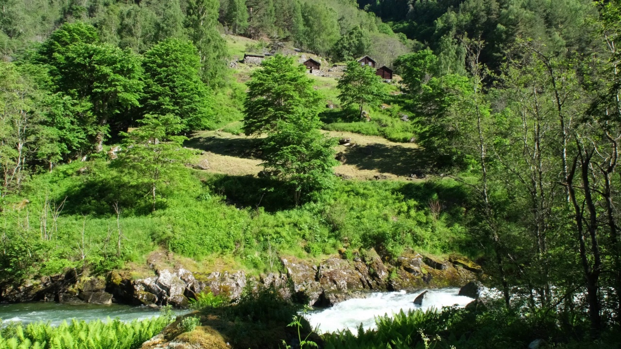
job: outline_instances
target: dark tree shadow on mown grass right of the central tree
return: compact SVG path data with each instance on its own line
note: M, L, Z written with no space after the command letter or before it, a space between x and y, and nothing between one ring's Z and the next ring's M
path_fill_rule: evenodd
M432 156L422 149L380 143L347 148L345 158L346 165L356 166L359 170L375 170L396 176L425 173L433 164Z

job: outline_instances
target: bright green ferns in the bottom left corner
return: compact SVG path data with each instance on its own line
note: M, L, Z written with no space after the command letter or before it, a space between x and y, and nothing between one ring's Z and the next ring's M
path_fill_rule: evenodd
M169 323L169 319L156 317L132 322L74 319L58 326L9 324L0 330L0 349L137 349Z

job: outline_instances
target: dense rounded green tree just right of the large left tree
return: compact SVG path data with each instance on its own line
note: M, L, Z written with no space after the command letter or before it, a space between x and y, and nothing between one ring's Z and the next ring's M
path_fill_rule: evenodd
M191 42L167 39L153 46L143 59L145 114L170 114L183 131L201 130L212 119L213 96L199 78L201 60Z

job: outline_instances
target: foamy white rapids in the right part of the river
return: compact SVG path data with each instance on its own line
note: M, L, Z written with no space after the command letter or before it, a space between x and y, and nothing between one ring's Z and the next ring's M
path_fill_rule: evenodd
M428 291L422 306L414 304L414 299L424 291ZM368 294L363 299L348 299L338 303L336 306L325 310L318 310L306 314L306 319L312 327L318 327L320 333L335 332L338 330L350 329L356 333L360 324L365 329L376 327L375 317L389 315L392 316L400 310L407 312L410 309L427 310L435 308L442 310L442 307L457 305L465 307L473 299L465 296L458 296L458 288L429 289L414 293L401 292L377 292Z

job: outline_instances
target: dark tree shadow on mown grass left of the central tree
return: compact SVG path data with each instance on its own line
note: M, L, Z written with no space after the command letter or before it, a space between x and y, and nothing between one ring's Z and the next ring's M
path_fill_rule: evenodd
M219 155L237 158L260 158L260 138L220 138L215 136L196 137L183 143L184 147L195 148Z

